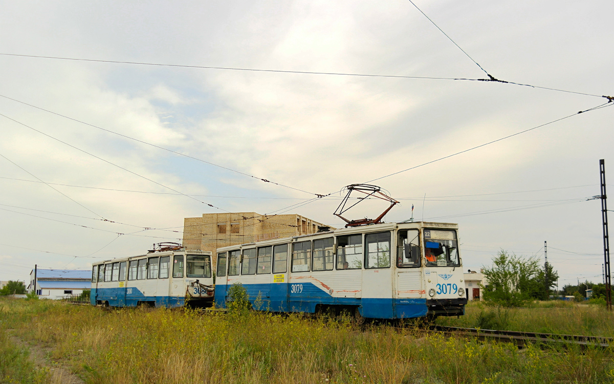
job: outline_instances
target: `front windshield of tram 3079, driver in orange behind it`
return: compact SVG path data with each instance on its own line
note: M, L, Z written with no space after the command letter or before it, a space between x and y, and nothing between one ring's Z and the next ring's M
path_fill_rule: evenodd
M456 231L425 229L424 256L427 267L460 267Z

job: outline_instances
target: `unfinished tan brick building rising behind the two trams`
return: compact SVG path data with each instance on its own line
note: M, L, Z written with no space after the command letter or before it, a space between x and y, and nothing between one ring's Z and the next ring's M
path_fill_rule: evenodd
M202 217L185 217L183 245L211 251L215 268L217 248L316 233L318 227L324 226L298 214L204 213Z

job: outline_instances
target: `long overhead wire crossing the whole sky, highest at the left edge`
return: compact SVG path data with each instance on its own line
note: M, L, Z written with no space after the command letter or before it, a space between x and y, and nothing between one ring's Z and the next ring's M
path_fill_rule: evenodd
M144 63L139 61L117 61L117 60L95 60L85 58L69 58L69 57L52 57L39 55L18 55L16 53L0 53L3 56L15 57L30 57L30 58L49 58L55 60L72 60L72 61L91 61L95 63L114 63L114 64L130 64L130 65L149 65L149 66L168 66L177 68L201 68L201 69L225 69L229 71L252 71L252 72L276 72L276 73L293 73L293 74L315 74L315 75L333 75L333 76L358 76L358 77L387 77L392 79L426 79L426 80L464 80L464 81L481 81L481 82L499 82L503 84L521 85L523 87L540 88L544 90L552 90L556 92L575 93L576 95L585 95L593 97L607 98L614 100L613 96L593 95L591 93L573 92L561 90L557 88L538 87L537 85L521 84L511 81L504 81L489 77L488 79L467 79L464 77L428 77L428 76L402 76L402 75L385 75L385 74L360 74L360 73L344 73L344 72L311 72L311 71L284 71L281 69L255 69L255 68L232 68L232 67L217 67L217 66L198 66L198 65L177 65L177 64L160 64L160 63Z

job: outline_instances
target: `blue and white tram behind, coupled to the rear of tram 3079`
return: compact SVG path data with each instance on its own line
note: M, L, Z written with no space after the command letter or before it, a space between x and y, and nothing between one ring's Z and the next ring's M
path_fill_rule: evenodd
M91 305L206 306L213 292L211 252L150 252L94 263L91 272Z

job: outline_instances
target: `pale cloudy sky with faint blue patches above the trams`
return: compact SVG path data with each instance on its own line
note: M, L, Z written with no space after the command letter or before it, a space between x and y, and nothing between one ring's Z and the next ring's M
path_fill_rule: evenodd
M614 3L414 3L468 55L408 0L0 1L2 54L180 65L0 55L0 280L140 254L203 213L340 227L339 193L292 205L576 114L373 184L402 199L386 221L458 223L465 268L546 240L561 286L600 282L586 199L599 159L614 190L614 103L577 112L614 95ZM472 59L577 93L450 80L487 77Z

